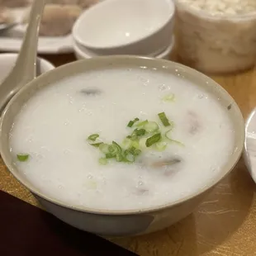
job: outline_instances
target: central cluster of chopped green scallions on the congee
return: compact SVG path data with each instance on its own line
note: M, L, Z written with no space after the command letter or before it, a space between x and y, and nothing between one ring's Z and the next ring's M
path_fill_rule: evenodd
M164 151L169 143L167 140L162 140L162 133L170 143L183 145L178 140L171 138L173 122L168 121L164 112L159 113L158 116L164 126L171 126L168 127L169 130L165 133L160 130L160 126L157 122L148 120L138 122L139 118L135 118L133 121L129 121L127 125L131 128L134 126L135 122L137 122L135 129L132 130L130 135L126 136L121 145L116 143L116 141L112 141L111 144L97 141L92 143L92 141L97 140L99 135L90 135L88 137L88 140L91 141L90 145L100 149L103 154L102 158L99 159L99 164L107 164L109 160L112 161L113 159L116 159L116 162L134 163L135 159L142 154L142 150L152 145L154 145L154 147L151 149Z

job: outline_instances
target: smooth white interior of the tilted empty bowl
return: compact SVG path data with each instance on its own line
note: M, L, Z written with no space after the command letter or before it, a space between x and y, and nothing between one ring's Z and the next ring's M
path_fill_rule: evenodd
M158 31L173 12L170 0L107 0L83 12L73 36L91 49L129 45Z

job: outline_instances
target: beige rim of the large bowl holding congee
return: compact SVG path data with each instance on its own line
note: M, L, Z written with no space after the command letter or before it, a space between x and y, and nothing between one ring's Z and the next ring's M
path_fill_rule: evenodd
M230 102L232 104L232 111L235 114L235 117L237 118L238 124L235 126L235 130L238 132L238 139L237 139L237 145L235 145L234 153L230 156L228 161L226 162L225 166L221 168L220 173L218 173L218 176L216 178L211 179L209 183L206 186L201 187L196 192L191 193L187 197L180 198L176 201L173 201L171 203L165 203L161 204L159 206L151 206L151 207L145 207L141 209L134 209L134 210L100 210L100 209L93 209L90 207L85 206L71 206L68 203L65 203L64 201L58 200L55 197L50 197L44 194L44 192L40 192L40 189L34 187L34 185L26 180L22 174L19 174L18 169L16 168L15 164L12 163L12 161L9 161L8 159L11 159L10 149L8 149L8 145L4 145L2 131L3 131L3 125L7 120L7 116L9 115L9 112L12 107L12 104L15 104L17 99L19 97L22 97L23 92L26 94L28 93L30 96L33 94L31 93L32 88L35 88L36 84L43 84L43 86L47 86L49 83L53 83L53 81L50 81L51 79L55 79L55 73L63 73L64 75L61 78L58 78L57 81L60 81L62 78L71 76L70 74L67 74L68 72L65 72L65 70L69 70L72 68L75 74L78 74L77 71L78 67L85 68L84 70L87 70L86 67L90 65L90 62L94 64L114 64L116 63L125 63L127 64L132 62L135 67L142 66L154 66L157 68L163 68L163 69L171 69L171 70L179 70L182 73L187 73L188 75L191 75L193 78L196 78L198 81L201 81L201 83L205 83L209 88L213 88L214 92L219 93L221 96L225 97L225 100L227 102ZM106 65L107 66L107 65ZM155 69L155 68L154 68ZM71 70L71 69L70 69ZM50 78L49 78L50 77ZM37 90L38 88L36 88ZM27 92L26 92L27 91ZM10 114L11 115L11 114ZM9 134L8 130L5 134ZM64 208L68 208L69 210L73 211L80 211L85 212L89 214L96 214L96 215L105 215L105 216L130 216L130 215L138 215L138 214L146 214L150 212L155 211L162 211L164 209L178 206L185 201L190 201L195 197L200 196L204 192L211 189L211 187L215 187L217 183L220 182L227 174L229 174L232 169L235 167L235 164L239 161L239 158L243 152L244 149L244 136L245 136L245 130L244 130L244 118L242 116L242 113L236 104L235 100L230 96L228 92L224 88L220 86L220 84L216 83L213 79L207 77L205 74L198 72L195 69L191 69L183 64L178 64L173 61L169 61L166 59L155 59L155 58L149 58L149 57L140 57L140 56L131 56L131 55L113 55L113 56L100 56L92 59L82 59L78 60L69 64L64 64L63 66L59 66L57 69L50 70L47 73L41 74L38 78L35 78L31 83L26 84L25 87L21 88L17 94L12 97L11 101L7 104L7 107L2 112L2 118L0 119L0 153L2 156L2 160L4 164L6 164L7 169L9 170L12 175L17 178L17 180L23 184L30 192L36 194L38 197L41 197L45 199L46 201L50 201L51 203L62 206Z

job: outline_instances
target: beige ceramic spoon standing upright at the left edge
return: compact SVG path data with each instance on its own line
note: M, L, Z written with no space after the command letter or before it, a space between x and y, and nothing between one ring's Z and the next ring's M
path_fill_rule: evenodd
M34 0L32 3L30 21L17 57L17 62L0 85L0 114L13 95L26 83L36 78L38 33L44 7L45 0Z

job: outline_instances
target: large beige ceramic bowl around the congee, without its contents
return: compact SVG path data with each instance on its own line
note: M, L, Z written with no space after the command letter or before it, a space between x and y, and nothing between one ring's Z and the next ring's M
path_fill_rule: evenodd
M17 165L14 164L12 154L10 153L9 133L12 129L15 116L17 116L21 107L36 92L50 86L50 84L71 76L90 72L90 70L112 69L121 66L124 67L125 65L134 68L143 65L149 69L155 69L156 72L164 70L164 72L175 75L180 73L181 77L186 78L192 83L197 83L198 87L204 88L213 97L218 98L222 107L226 108L232 104L232 107L227 111L227 115L230 116L235 129L233 154L226 156L226 164L205 186L202 186L197 191L192 191L187 197L164 205L132 211L103 211L86 206L73 206L72 204L64 203L64 201L59 201L55 197L47 196L44 192L40 191L39 187L36 187L36 184L29 181L26 175L22 175ZM41 75L21 88L8 103L0 119L0 131L0 152L4 163L14 177L36 196L46 210L50 211L50 213L57 216L60 220L80 230L107 236L142 235L164 229L188 216L195 210L203 198L211 192L211 189L235 167L244 147L243 116L234 99L219 84L197 72L195 69L190 69L182 64L163 59L149 59L135 56L97 57L74 61L73 63L63 65Z

